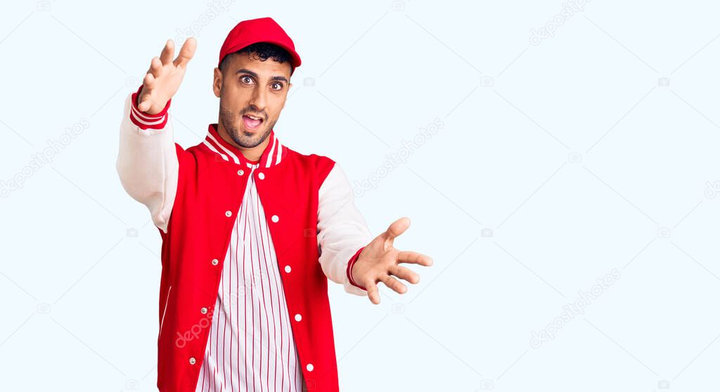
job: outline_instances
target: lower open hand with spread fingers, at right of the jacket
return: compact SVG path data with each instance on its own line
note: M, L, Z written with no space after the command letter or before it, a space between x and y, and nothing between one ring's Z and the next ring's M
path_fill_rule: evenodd
M408 288L395 277L413 284L420 282L418 273L400 266L400 263L420 264L426 267L433 264L433 259L424 254L400 251L392 246L395 237L404 233L408 227L410 227L410 218L395 220L384 233L365 246L352 267L353 280L367 290L368 298L376 305L380 303L377 282L383 282L385 286L399 294L407 292Z

